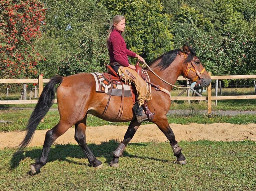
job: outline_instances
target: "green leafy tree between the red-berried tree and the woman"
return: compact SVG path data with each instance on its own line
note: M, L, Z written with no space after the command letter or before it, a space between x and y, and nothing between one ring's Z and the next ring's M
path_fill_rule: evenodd
M51 77L105 70L105 39L109 15L97 0L44 0L47 7L44 38L37 50L47 58L39 70Z

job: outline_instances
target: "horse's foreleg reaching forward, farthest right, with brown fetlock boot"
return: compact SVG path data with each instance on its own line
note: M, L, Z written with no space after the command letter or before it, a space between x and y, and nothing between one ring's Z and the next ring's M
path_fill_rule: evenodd
M154 120L156 120L156 118ZM170 145L172 147L174 156L176 156L176 158L177 158L178 163L186 164L186 159L183 156L183 154L181 153L182 149L178 145L178 142L175 139L175 135L174 135L172 129L170 128L167 119L156 120L156 121L154 121L154 123L158 126L158 128L165 134L167 139L170 141Z

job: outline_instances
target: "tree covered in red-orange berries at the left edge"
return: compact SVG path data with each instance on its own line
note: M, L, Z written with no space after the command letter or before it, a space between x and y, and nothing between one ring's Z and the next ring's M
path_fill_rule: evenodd
M45 9L37 0L0 2L0 78L33 78L44 58L33 42L41 36Z

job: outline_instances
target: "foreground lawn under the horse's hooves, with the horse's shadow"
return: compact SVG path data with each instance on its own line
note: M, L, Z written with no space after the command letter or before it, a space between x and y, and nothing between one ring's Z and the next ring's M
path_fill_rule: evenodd
M48 163L34 176L30 164L42 147L29 147L13 156L0 150L0 190L194 190L252 191L256 188L256 142L181 141L186 165L175 163L168 143L131 143L119 160L108 166L115 141L89 145L104 167L94 169L78 145L54 145Z

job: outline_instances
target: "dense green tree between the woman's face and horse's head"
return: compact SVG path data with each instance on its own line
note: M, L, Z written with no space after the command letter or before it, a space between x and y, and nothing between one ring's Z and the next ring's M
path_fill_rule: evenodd
M161 14L159 0L103 0L111 15L126 18L124 38L127 47L140 54L146 62L173 49L173 35L169 31L170 16Z

